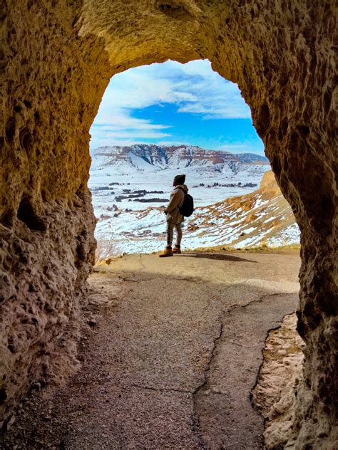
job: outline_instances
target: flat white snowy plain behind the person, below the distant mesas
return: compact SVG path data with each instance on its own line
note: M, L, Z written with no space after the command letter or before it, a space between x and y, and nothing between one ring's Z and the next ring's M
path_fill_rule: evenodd
M138 160L137 164L138 169L130 169L125 164L116 167L116 164L105 166L102 162L94 162L92 165L89 187L98 219L96 239L99 252L106 252L106 256L111 253L149 253L163 248L165 215L161 208L168 203L176 174L186 174L186 184L195 207L202 208L254 191L263 174L270 169L264 164L240 164L235 173L229 167L218 172L215 167L205 166L156 169L145 162L143 169L142 161ZM227 186L215 186L215 183ZM251 186L245 187L246 184ZM138 194L140 197L135 197ZM132 198L121 199L130 196ZM188 224L189 220L185 226ZM196 234L185 241L185 246L190 248L203 245L207 242Z

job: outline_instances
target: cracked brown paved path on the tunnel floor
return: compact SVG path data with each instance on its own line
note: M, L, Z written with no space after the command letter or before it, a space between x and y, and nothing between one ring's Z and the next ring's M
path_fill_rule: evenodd
M81 369L26 401L4 448L260 449L250 391L268 331L297 308L298 271L290 251L96 266Z

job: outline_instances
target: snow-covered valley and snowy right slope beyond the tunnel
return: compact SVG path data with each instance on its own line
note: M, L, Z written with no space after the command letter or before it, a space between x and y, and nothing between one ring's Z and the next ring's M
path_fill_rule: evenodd
M225 199L250 194L257 189L270 169L269 165L215 164L195 160L187 166L187 161L180 158L161 165L149 164L133 152L121 160L93 153L89 187L98 218L96 239L101 257L116 253L149 253L163 248L165 214L162 206L167 204L173 189L173 177L182 173L186 174L186 184L196 208L193 216L185 221L185 248L232 243L240 248L260 244L268 235L271 235L268 244L273 246L292 244L299 239L297 226L293 223L290 229L282 229L280 236L271 233L271 226L275 226L280 217L280 207L275 205L278 214L274 216L274 205L269 201L267 214L267 202L259 196L255 197L255 204L250 204L249 211L242 211L240 204L237 210L220 204ZM264 229L245 226L244 229L243 221L247 221L252 211L267 215L266 223L271 221L271 226Z

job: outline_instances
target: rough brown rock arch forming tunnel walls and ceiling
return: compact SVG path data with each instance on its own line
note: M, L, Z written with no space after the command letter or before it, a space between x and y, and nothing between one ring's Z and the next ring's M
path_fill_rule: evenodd
M307 347L295 445L334 445L335 4L17 0L14 6L1 1L0 403L5 412L30 382L58 372L51 342L66 340L76 323L94 248L86 187L88 130L109 78L168 58L209 58L215 70L240 86L302 231L298 330Z

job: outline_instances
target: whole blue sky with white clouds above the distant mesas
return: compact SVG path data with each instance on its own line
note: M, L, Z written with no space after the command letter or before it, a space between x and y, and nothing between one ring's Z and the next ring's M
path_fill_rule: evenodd
M140 143L264 155L240 90L208 60L156 63L111 78L91 127L91 148Z

